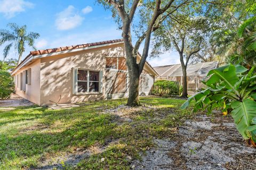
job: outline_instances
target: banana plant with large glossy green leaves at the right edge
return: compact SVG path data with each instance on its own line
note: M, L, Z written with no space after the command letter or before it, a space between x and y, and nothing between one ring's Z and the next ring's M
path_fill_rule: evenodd
M256 147L256 74L242 65L228 64L211 70L203 83L207 88L198 92L181 106L185 109L191 100L195 100L193 111L223 108L231 110L236 128L242 137Z

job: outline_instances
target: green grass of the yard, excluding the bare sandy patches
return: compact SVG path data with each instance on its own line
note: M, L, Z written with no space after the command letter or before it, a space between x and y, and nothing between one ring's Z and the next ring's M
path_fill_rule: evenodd
M77 149L108 146L82 160L77 169L129 169L130 159L152 147L153 137L171 137L174 128L193 116L180 110L184 100L141 98L139 109L129 113L131 122L119 123L106 109L126 103L125 99L81 104L53 111L46 107L0 108L0 169L38 167L43 160L75 153ZM105 158L102 162L101 158ZM63 163L63 167L73 169Z

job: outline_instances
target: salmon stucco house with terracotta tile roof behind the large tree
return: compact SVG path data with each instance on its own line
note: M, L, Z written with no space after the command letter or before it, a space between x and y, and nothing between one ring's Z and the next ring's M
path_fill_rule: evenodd
M138 54L137 62L140 58ZM16 94L40 106L59 99L60 104L79 103L129 93L122 39L30 52L11 74ZM146 63L140 94L150 93L157 75Z

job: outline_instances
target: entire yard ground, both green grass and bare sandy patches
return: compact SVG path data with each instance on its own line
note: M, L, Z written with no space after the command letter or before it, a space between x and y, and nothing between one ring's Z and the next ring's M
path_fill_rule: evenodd
M140 101L0 108L0 169L255 168L256 149L230 115L181 110L181 99Z

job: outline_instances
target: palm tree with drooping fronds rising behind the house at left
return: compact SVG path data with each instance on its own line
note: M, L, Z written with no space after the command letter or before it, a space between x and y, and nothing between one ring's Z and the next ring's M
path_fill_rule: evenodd
M7 27L10 27L12 31L0 29L0 46L4 43L10 43L6 45L3 50L4 58L6 58L6 56L9 54L11 47L14 46L14 49L18 52L18 64L20 64L21 56L23 52L25 52L25 45L27 44L29 47L36 50L34 46L35 39L37 39L40 35L36 32L27 33L26 25L19 27L19 25L16 23L9 23L7 24Z

